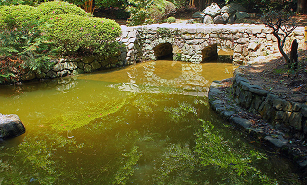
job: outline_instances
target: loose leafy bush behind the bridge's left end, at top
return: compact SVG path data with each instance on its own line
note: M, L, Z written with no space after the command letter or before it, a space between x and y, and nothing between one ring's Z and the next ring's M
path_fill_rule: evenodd
M128 25L162 22L176 11L173 3L166 0L128 0L126 10L130 13Z

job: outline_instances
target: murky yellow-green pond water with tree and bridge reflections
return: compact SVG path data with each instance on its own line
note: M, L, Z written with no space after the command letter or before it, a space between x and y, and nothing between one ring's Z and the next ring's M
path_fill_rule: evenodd
M1 142L2 185L292 185L291 163L208 104L227 63L152 61L1 86L0 112L26 133Z

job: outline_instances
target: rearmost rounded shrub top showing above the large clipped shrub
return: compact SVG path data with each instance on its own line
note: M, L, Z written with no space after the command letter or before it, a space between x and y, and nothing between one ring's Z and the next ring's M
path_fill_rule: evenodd
M79 16L91 16L90 13L86 13L80 7L62 1L44 2L41 3L37 9L44 15L73 14Z

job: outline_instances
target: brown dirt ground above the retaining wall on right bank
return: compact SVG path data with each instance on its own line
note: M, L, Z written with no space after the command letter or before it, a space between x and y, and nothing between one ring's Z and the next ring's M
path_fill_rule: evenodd
M298 52L298 67L291 69L282 56L249 66L246 77L252 84L293 102L307 103L307 50Z

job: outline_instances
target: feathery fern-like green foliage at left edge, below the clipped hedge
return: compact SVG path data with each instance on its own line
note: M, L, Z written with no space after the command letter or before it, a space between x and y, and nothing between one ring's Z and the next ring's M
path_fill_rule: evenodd
M54 49L51 49L50 39L39 28L40 22L36 20L18 29L0 31L0 83L18 81L28 71L40 73L51 66L49 60Z

